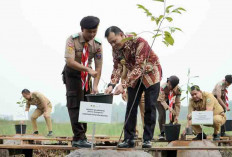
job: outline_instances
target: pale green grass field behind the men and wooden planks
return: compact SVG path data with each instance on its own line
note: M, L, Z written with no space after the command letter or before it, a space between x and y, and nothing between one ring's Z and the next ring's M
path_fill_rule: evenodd
M14 125L18 122L15 121L5 121L0 120L0 135L14 135L15 127ZM27 134L32 134L32 126L30 121L25 122L27 124ZM185 128L186 122L181 122L181 133ZM87 134L92 133L92 124L88 124ZM45 122L38 122L39 134L47 135L47 127ZM96 135L108 135L108 136L120 136L121 130L123 128L122 123L113 124L96 124ZM142 125L138 125L139 136L142 136ZM54 136L72 136L72 129L70 123L53 123ZM208 135L213 134L213 128L204 127L204 132ZM159 134L159 126L156 125L155 136Z

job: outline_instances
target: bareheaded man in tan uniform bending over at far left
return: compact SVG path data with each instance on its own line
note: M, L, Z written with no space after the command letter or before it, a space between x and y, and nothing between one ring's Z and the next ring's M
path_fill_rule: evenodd
M51 112L52 104L43 94L39 92L30 92L28 89L22 90L23 97L27 100L25 111L29 111L31 105L36 105L37 109L31 115L32 128L35 135L39 134L36 120L43 115L48 128L48 135L52 136Z

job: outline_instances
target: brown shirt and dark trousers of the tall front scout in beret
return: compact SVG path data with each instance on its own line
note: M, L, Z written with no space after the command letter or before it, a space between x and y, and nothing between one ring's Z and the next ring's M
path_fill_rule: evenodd
M102 64L102 45L98 39L85 41L82 33L77 33L70 36L66 42L65 58L75 58L75 61L81 64L84 45L88 46L88 66L91 68L92 59L95 64ZM74 70L67 65L63 71L63 80L66 85L67 108L71 120L73 130L73 141L86 139L87 131L86 123L79 123L80 101L87 101L85 94L91 92L91 83L88 83L88 90L82 90L81 71ZM88 77L90 81L90 76Z

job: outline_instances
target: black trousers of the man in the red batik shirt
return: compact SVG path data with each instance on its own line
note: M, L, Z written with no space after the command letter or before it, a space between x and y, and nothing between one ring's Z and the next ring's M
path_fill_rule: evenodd
M133 101L135 99L136 92L138 90L138 95L135 100L135 104L132 108L130 117L128 122L125 125L124 129L124 140L129 139L133 140L135 136L135 126L137 121L137 111L138 105L141 99L141 95L143 91L145 91L145 114L144 114L144 132L143 132L143 140L151 140L153 138L155 124L156 124L156 106L157 106L157 98L160 90L160 83L156 83L149 88L145 88L143 84L141 84L138 89L140 81L138 81L135 88L129 87L128 91L128 102L126 108L126 116L125 122L128 118L129 111L132 107Z

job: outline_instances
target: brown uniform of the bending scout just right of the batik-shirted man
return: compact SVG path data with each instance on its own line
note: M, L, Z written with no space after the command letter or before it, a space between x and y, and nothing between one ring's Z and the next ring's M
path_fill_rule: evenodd
M181 97L181 88L177 85L173 90L169 90L168 83L162 84L160 87L160 93L159 97L157 99L158 105L157 109L159 112L159 127L160 127L160 133L164 134L164 127L163 124L166 122L166 110L169 108L169 98L168 96L170 95L170 92L173 92L173 98L174 99L174 104L172 106L173 111L172 111L172 119L170 119L170 123L173 123L176 116L179 117L180 114L180 97Z

